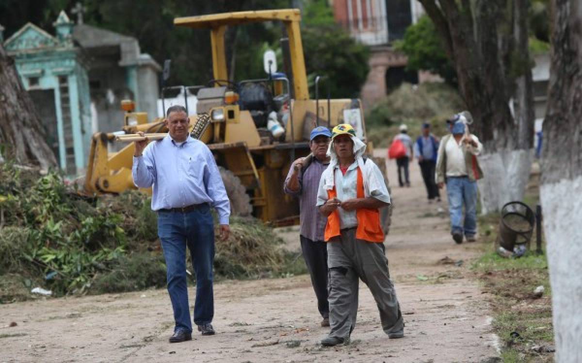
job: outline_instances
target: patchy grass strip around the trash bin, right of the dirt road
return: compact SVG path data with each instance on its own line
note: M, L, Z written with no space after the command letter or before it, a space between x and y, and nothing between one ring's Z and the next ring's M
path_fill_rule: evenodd
M524 202L530 207L539 200L536 184L526 191ZM552 362L552 353L536 353L533 346L553 347L552 301L548 261L545 255L528 251L521 258L503 258L495 252L499 214L478 218L481 237L488 251L475 260L471 269L485 291L493 295L493 327L502 341L503 362ZM531 247L535 250L535 229ZM543 240L542 240L543 242ZM542 244L545 250L545 245ZM544 286L536 295L535 288Z

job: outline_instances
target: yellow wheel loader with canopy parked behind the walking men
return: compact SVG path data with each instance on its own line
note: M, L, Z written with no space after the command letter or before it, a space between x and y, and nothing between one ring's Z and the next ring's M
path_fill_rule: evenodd
M197 91L196 115L190 116L191 135L206 143L214 153L230 198L232 214L252 214L277 226L293 225L299 221L299 203L283 193L282 185L294 158L309 154L307 135L311 128L349 122L358 136L365 139L360 100L310 99L300 19L298 9L174 19L176 26L210 29L214 79L206 86L188 87ZM288 37L285 43L288 42L289 77L271 75L268 79L239 82L228 79L224 39L227 27L276 21L283 23ZM269 58L265 67L270 68L273 63L274 59ZM251 94L250 102L247 94ZM260 95L259 102L257 94ZM122 108L126 111L122 131L93 135L84 182L85 192L91 195L136 188L131 174L134 144L124 145L115 153L108 151L108 144L115 142L119 133L167 132L163 118L148 121L148 115L136 112L130 101L123 102ZM273 115L273 112L282 120L285 131L277 138L265 125L268 115Z

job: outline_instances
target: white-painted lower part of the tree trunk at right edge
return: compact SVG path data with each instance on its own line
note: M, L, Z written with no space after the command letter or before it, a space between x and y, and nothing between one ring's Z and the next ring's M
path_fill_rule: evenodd
M556 362L582 362L582 177L540 188Z

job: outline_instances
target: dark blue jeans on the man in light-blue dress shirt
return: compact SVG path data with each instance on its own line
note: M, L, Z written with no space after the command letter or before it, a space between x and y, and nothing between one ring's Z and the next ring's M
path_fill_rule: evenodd
M214 264L214 222L210 206L191 212L158 212L158 236L166 260L168 293L177 330L192 331L186 279L186 245L196 272L194 323L211 323L214 317L212 265Z

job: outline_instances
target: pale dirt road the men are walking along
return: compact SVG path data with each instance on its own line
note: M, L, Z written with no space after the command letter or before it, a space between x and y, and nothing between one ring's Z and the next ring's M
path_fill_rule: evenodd
M352 343L322 348L318 342L328 330L319 325L308 277L297 276L217 283L217 335L195 334L179 344L168 343L173 321L165 290L0 305L0 361L495 361L487 304L467 277L478 244L455 245L448 216L425 199L418 166L411 165L412 187L399 188L394 164L388 172L396 209L386 254L406 321L403 339L387 339L374 299L360 284ZM446 210L445 202L441 206ZM298 249L296 232L285 235Z

